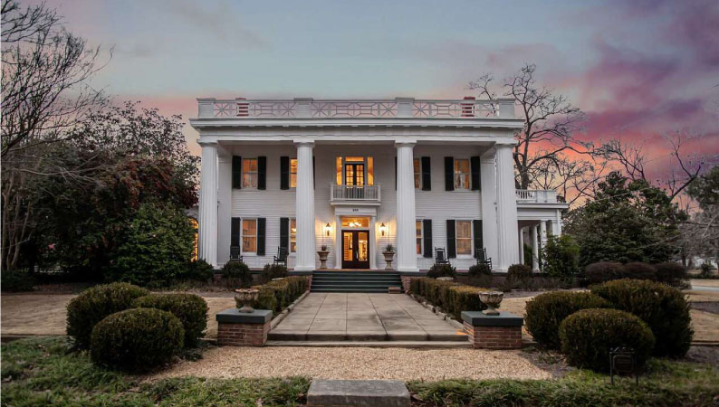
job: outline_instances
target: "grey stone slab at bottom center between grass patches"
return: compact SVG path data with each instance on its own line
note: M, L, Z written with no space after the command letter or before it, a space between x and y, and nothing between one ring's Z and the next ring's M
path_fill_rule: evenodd
M409 407L409 392L398 380L313 380L308 406Z

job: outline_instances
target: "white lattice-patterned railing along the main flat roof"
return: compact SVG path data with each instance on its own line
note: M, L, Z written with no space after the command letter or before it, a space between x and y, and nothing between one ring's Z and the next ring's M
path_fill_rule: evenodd
M514 118L513 99L197 99L199 118Z

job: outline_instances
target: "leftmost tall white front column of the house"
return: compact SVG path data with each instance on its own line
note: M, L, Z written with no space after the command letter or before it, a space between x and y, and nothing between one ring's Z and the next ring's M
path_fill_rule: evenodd
M202 147L199 204L198 256L217 266L217 143L199 142Z

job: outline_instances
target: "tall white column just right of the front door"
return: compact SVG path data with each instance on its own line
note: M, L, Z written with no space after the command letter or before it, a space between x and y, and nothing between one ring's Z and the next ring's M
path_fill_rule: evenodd
M415 143L396 143L397 147L397 270L417 271L415 222Z

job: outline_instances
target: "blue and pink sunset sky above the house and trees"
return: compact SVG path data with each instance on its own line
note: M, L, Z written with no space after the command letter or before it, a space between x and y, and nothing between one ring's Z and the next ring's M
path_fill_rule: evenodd
M201 97L461 99L483 73L534 63L539 85L586 112L582 139L636 143L657 173L676 132L719 156L719 0L46 4L113 49L94 86L166 115L197 116Z

